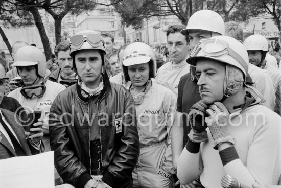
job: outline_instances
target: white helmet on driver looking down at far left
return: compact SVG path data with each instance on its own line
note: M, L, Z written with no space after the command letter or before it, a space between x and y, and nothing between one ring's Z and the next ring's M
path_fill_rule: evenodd
M37 65L37 74L44 77L47 69L47 62L44 53L35 46L23 46L15 54L15 61L12 66Z

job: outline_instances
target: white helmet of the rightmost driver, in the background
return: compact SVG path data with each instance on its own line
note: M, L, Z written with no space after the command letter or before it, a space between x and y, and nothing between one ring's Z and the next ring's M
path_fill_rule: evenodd
M262 50L268 51L268 42L262 35L251 35L246 38L243 43L246 50Z

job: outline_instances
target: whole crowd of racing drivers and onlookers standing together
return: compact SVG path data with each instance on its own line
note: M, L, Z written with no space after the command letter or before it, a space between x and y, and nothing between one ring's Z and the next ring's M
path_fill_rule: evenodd
M15 42L13 68L0 65L0 159L54 151L57 188L217 188L226 174L281 187L280 60L266 38L210 10L166 36L166 63L91 30L49 61Z

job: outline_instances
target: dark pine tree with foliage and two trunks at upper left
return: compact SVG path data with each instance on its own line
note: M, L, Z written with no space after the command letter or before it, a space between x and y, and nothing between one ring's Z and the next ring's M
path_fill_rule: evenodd
M83 11L92 10L96 4L96 1L92 0L6 0L0 1L0 18L4 20L5 26L22 27L35 23L46 58L50 59L52 51L39 10L44 9L54 18L56 44L58 44L61 41L61 21L63 17L67 13L79 14ZM17 15L16 19L14 19L15 14ZM30 15L32 16L30 17Z

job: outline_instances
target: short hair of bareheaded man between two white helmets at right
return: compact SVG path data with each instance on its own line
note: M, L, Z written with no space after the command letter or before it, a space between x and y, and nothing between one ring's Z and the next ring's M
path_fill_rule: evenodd
M238 22L228 21L224 23L225 36L235 38L236 40L244 41L243 29Z

